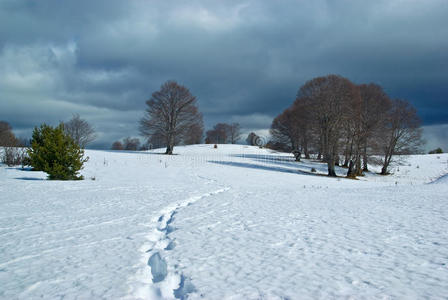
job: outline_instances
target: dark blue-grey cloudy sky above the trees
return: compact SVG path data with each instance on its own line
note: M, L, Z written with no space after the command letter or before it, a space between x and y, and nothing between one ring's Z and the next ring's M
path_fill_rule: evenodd
M206 129L266 133L302 84L339 74L407 99L448 150L447 16L446 0L0 0L0 120L30 137L78 113L109 148L176 80Z

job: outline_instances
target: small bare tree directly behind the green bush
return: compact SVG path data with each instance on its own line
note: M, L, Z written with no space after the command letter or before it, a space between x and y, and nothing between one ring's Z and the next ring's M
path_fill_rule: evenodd
M76 144L81 148L85 148L89 143L96 139L95 130L79 114L73 114L68 122L64 122L64 131L68 134Z

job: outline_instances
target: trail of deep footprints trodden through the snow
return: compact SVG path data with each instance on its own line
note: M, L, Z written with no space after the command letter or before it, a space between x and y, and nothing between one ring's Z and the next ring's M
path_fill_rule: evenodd
M131 281L137 280L139 282L139 287L131 288L132 298L152 299L163 297L164 299L184 299L188 294L196 291L190 278L179 272L177 265L170 264L166 257L167 251L171 251L176 247L175 239L170 237L170 233L176 230L172 222L174 221L174 216L183 207L189 206L203 198L226 192L229 189L228 187L220 188L200 196L187 198L182 202L176 202L163 208L151 220L149 226L152 230L147 236L148 243L140 248L143 254L142 262L145 263L145 267L139 270L135 278L131 279Z

